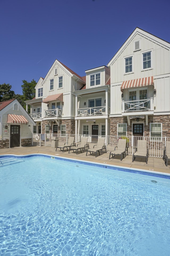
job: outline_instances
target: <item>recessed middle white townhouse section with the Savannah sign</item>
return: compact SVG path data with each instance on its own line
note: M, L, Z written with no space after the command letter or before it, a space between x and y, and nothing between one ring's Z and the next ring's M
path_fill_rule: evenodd
M75 132L109 135L110 69L101 66L86 70L86 85L75 91Z

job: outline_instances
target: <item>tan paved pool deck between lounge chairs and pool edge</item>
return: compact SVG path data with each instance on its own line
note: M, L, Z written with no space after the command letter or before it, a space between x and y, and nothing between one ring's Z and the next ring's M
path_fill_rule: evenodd
M165 165L164 160L162 158L154 158L149 157L148 163L146 164L144 158L136 158L134 162L132 162L132 155L126 155L122 161L120 161L120 156L115 156L114 158L109 159L109 153L104 153L102 155L99 155L95 157L95 154L88 153L86 156L86 152L78 154L73 153L73 151L64 150L62 152L60 149L54 149L52 147L38 147L38 146L28 146L28 147L14 147L10 149L0 149L0 155L28 155L28 154L47 154L47 155L54 155L58 157L66 157L71 159L77 159L77 160L86 160L90 162L96 162L96 163L107 163L110 165L116 165L120 167L129 167L129 168L135 168L135 169L142 169L142 170L148 170L148 171L158 171L161 173L169 173L170 174L170 163L168 163L168 166Z

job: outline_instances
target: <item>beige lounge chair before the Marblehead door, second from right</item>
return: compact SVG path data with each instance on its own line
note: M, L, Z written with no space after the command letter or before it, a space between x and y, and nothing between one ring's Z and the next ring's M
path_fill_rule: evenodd
M148 149L147 149L147 141L145 140L138 140L137 142L137 151L133 153L132 162L135 160L136 157L145 157L146 163L148 163Z

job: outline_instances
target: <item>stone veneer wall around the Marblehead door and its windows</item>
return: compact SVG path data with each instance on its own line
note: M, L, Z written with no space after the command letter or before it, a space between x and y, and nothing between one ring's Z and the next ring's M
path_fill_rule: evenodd
M128 120L126 117L111 117L110 121L110 135L117 136L117 124L118 123L127 123L127 136L132 135L132 121L136 119L130 120L130 125L128 125ZM170 115L150 115L148 116L148 125L146 126L146 120L144 120L144 136L150 136L150 123L162 123L162 137L170 137Z

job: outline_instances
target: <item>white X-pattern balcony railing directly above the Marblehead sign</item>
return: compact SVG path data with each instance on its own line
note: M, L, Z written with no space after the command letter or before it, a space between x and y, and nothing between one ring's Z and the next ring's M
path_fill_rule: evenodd
M153 98L136 101L122 101L122 112L151 110L153 110Z

